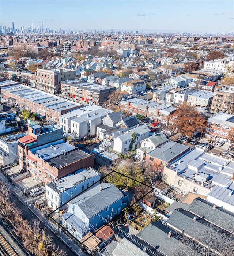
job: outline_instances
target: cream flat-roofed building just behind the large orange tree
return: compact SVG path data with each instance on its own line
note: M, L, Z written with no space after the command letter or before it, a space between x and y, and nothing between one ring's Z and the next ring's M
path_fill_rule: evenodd
M198 108L208 109L211 106L214 93L210 91L195 91L188 95L188 104Z

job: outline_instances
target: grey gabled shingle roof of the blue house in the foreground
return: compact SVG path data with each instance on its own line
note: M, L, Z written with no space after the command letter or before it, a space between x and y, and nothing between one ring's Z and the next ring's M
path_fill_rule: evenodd
M102 191L100 187L102 186ZM81 195L71 200L70 204L78 205L88 219L104 210L117 200L121 199L124 194L110 183L101 183L91 187Z

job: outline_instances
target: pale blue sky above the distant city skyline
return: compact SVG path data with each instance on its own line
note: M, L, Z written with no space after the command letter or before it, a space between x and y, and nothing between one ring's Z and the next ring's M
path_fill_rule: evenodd
M139 33L234 33L233 0L0 0L0 23L15 28Z

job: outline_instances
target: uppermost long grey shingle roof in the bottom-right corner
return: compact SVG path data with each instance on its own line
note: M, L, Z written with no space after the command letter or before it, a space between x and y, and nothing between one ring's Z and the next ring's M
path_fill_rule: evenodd
M218 206L214 209L213 206L214 204L198 197L190 204L188 211L227 231L234 232L234 214Z

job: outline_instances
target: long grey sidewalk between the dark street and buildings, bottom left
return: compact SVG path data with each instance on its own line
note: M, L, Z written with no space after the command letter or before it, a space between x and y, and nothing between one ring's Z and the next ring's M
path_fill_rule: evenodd
M16 188L8 179L3 175L3 173L0 172L0 180L8 185L10 187L11 192L18 197L18 199L27 207L30 211L32 211L43 223L44 225L53 232L55 236L57 236L61 241L64 242L65 245L69 247L76 255L78 256L87 256L86 253L82 251L82 249L75 244L69 237L67 237L65 234L57 234L57 225L53 221L49 221L48 218L45 217L45 215L42 214L41 211L39 211L34 204L31 202L29 198L23 195L23 193Z

